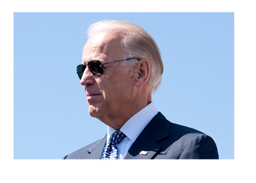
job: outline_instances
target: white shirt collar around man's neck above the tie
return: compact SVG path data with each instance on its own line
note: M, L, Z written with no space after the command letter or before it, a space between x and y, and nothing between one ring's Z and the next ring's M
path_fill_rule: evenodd
M141 131L147 126L147 124L156 116L158 113L154 102L151 102L146 107L141 109L138 113L132 116L120 129L127 138L131 139L132 142L136 140ZM113 132L116 130L108 126L107 141Z

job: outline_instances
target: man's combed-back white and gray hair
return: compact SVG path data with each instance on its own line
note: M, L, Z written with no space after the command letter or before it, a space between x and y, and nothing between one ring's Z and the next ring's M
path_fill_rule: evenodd
M125 57L137 57L141 60L145 59L150 63L150 76L148 84L152 86L152 92L156 92L161 84L163 74L163 62L161 54L154 38L150 36L145 29L130 22L122 22L118 20L102 20L92 24L88 28L88 38L101 31L113 29L122 30L122 44L124 46ZM134 64L136 61L127 61L125 64Z

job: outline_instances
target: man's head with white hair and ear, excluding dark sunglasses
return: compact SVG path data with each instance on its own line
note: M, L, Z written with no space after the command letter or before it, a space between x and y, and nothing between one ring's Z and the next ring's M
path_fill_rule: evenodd
M155 92L161 83L163 63L157 45L135 24L97 22L88 29L88 41L83 49L83 64L92 60L102 63L103 74L95 76L86 67L81 77L89 113L120 129L151 102L152 90ZM113 61L118 62L110 63Z

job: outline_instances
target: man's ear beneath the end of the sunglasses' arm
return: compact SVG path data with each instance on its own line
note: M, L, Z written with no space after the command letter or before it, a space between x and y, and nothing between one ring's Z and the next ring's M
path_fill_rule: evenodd
M137 65L136 75L135 75L135 84L137 86L142 86L147 83L148 77L150 74L150 64L147 60L141 60Z

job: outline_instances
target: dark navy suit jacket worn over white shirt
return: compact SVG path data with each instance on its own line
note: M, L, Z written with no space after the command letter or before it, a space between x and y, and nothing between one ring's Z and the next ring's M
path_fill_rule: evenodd
M63 159L100 159L107 136ZM140 152L146 152L140 154ZM146 154L146 155L145 155ZM158 113L143 129L124 159L218 159L214 140L206 134L171 123Z

